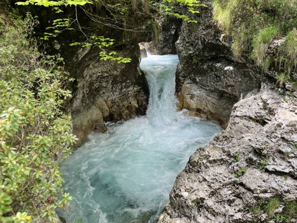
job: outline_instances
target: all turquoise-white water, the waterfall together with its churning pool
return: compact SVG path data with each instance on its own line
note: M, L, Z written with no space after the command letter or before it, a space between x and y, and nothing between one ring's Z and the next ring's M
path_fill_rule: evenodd
M61 164L73 197L59 214L68 223L155 222L191 154L221 128L176 111L175 55L142 59L150 95L147 115L110 123Z

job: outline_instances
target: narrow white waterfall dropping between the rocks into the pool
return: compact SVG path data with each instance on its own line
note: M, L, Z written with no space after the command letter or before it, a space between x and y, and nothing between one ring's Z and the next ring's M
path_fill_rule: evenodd
M142 59L149 87L147 117L151 125L168 125L177 118L175 98L175 70L177 55L149 55Z

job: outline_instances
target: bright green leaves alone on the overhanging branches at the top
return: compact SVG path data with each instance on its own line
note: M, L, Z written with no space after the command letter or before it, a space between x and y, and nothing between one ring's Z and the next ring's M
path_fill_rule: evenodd
M103 36L96 35L87 35L84 32L84 28L81 27L77 15L77 7L84 6L86 4L97 4L97 1L89 1L89 0L26 0L16 2L17 5L39 5L45 7L53 7L56 13L63 12L63 8L67 6L75 7L75 14L73 18L69 16L68 18L57 18L52 21L51 26L47 27L47 31L44 33L44 36L41 37L42 40L49 40L49 38L57 37L60 33L66 30L79 30L84 35L84 40L82 42L75 42L70 44L70 46L81 46L81 47L97 47L99 48L99 56L102 60L115 60L118 63L127 63L130 62L130 58L116 56L117 53L115 51L108 50L108 47L111 47L114 44L114 40L105 38ZM158 5L162 8L162 11L165 14L174 15L177 18L184 19L187 22L197 22L195 20L191 20L188 15L183 13L179 13L177 9L179 7L186 8L189 13L199 13L198 7L205 6L201 4L199 0L162 0L161 2L155 2L148 0L120 0L117 3L106 3L105 1L100 1L99 4L104 6L109 13L114 17L115 22L118 23L118 18L115 14L120 14L122 16L121 20L123 20L123 28L126 29L126 20L125 16L129 14L128 3L131 4L132 10L137 11L139 4L141 3L143 10L148 13L150 9L150 4ZM83 9L85 14L91 18L92 21L95 21L95 16L88 12L86 9ZM112 12L114 11L114 12ZM108 19L110 20L110 19ZM107 21L108 21L107 20ZM96 20L97 21L97 20ZM100 22L102 23L102 22ZM103 24L106 24L106 20L104 20ZM152 30L153 30L153 40L156 42L158 40L158 24L156 22L152 22ZM112 25L113 28L114 25ZM74 28L75 27L75 28ZM122 28L121 28L122 29Z

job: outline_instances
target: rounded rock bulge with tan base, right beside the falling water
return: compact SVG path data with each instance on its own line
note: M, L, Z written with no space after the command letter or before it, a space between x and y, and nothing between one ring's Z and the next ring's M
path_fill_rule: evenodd
M181 60L183 61L183 60ZM259 87L253 70L227 59L214 59L193 64L191 71L179 74L179 108L190 114L218 121L226 127L233 105L249 91ZM188 73L189 72L189 73Z

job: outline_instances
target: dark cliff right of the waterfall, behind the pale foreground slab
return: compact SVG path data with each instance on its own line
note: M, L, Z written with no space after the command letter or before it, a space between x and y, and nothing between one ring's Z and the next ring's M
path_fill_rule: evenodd
M176 42L179 108L226 127L232 106L254 88L259 75L233 59L230 44L212 20L210 1L203 1L198 23L183 22Z

